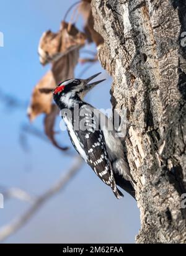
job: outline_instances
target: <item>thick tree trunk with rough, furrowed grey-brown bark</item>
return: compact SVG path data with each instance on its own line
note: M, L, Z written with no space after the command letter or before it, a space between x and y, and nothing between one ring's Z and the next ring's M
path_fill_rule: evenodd
M135 125L126 150L141 213L136 242L185 243L186 2L92 0L92 11L112 105Z

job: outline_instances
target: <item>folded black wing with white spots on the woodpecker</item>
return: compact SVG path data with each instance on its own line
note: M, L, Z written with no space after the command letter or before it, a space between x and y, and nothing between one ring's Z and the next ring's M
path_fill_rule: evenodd
M82 158L91 166L95 174L113 190L117 198L122 196L118 190L113 176L112 167L106 150L105 139L100 130L99 121L91 109L81 107L79 129L72 130L68 127L69 137ZM65 120L64 120L65 121Z

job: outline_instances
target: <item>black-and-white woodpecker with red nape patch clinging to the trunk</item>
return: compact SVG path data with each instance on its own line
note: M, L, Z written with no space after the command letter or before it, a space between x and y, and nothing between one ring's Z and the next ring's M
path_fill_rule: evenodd
M123 196L117 185L135 198L135 181L112 122L98 109L83 101L88 91L104 81L89 84L99 74L86 80L74 78L63 81L53 91L53 99L61 110L69 138L79 155L112 188L117 198Z

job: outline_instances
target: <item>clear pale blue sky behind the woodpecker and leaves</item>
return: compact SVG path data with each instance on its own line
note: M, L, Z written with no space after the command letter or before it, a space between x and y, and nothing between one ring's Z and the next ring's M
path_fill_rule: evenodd
M4 34L4 48L0 47L0 89L4 93L29 102L33 86L50 68L43 68L38 60L40 36L45 30L58 30L66 10L74 2L76 0L1 2L0 31ZM81 28L82 22L78 25ZM76 76L81 70L82 66L76 68ZM84 76L99 71L105 72L97 63ZM109 108L111 83L108 79L94 88L86 100L95 107ZM20 133L22 124L29 123L26 109L7 109L0 103L0 115L0 185L16 186L33 195L42 193L70 167L71 158L32 135L27 137L29 150L25 152L20 145ZM38 117L34 125L42 130L43 116ZM63 145L71 145L66 132L58 138ZM4 209L0 209L0 226L26 208L27 203L7 201ZM126 193L124 199L115 199L112 191L85 164L63 193L48 201L6 242L134 242L138 230L139 211L135 200Z

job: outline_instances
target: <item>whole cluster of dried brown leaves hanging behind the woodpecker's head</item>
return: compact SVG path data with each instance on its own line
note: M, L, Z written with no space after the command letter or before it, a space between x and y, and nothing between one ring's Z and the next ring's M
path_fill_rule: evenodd
M84 17L84 32L79 31L71 22L62 21L58 32L54 33L51 30L47 30L40 38L38 45L40 63L42 65L50 63L51 70L33 88L30 105L27 110L30 121L33 121L40 114L45 114L45 134L52 144L61 150L66 150L67 147L61 147L55 140L54 125L59 111L52 103L52 94L48 92L51 89L55 89L61 81L74 77L74 69L78 64L80 48L84 47L86 43L94 42L98 46L103 42L102 37L94 30L91 0L79 2L78 14ZM96 57L93 59L87 58L84 63L95 62L96 60ZM80 61L82 62L82 59Z

